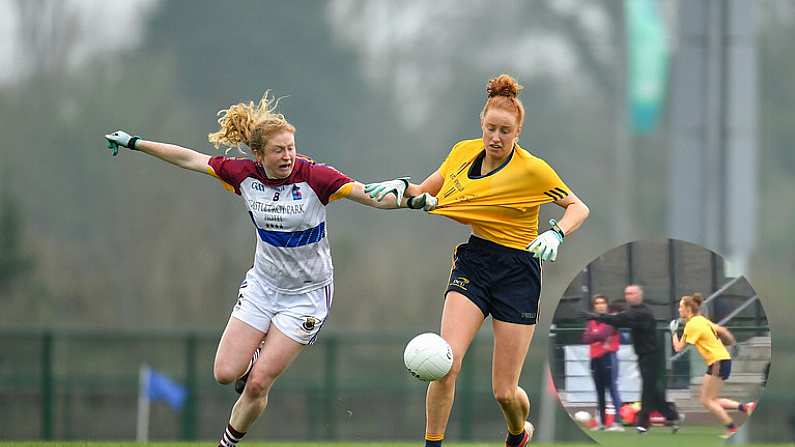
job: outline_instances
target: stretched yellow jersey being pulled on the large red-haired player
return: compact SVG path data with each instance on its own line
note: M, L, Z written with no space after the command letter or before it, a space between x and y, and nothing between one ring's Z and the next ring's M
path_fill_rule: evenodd
M568 196L569 188L518 144L500 167L481 175L484 156L480 138L453 146L439 167L444 183L431 213L470 225L475 236L524 250L538 236L541 205Z

